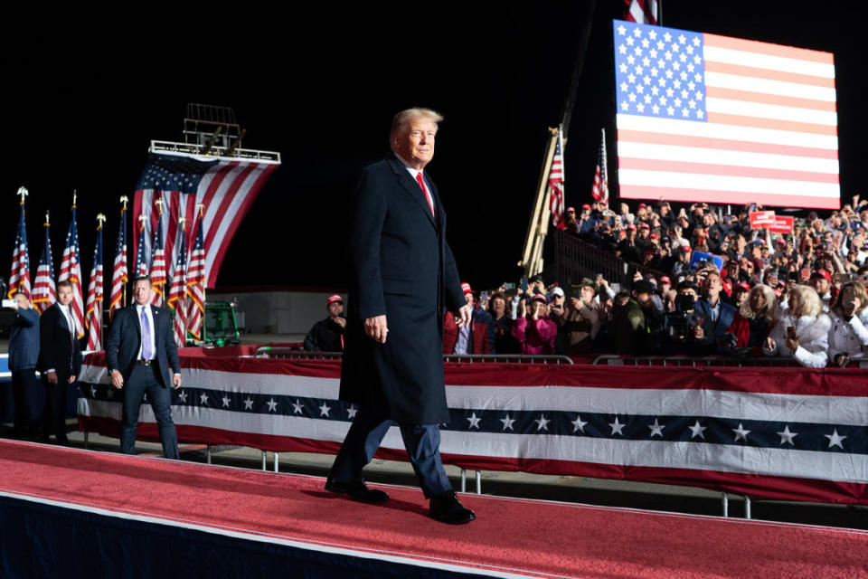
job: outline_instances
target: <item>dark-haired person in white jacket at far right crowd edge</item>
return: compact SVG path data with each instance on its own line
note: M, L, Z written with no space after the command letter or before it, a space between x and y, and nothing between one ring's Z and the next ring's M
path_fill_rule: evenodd
M835 365L844 366L850 358L865 357L868 347L868 293L858 281L849 281L841 288L840 295L831 313L829 357Z

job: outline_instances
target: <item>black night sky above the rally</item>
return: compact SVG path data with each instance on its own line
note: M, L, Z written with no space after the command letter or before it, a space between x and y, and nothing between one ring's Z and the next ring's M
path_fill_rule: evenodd
M565 153L567 204L590 200L599 128L614 131L609 21L622 5L597 2ZM32 271L46 208L59 267L73 189L82 270L90 271L99 212L109 215L110 262L118 197L132 197L149 141L181 140L186 103L203 102L235 109L247 128L244 147L283 156L232 242L218 287L344 287L347 196L358 169L387 152L392 114L414 105L446 117L429 174L462 277L475 287L517 278L547 128L559 123L587 5L322 6L207 22L193 14L125 16L109 28L84 24L88 14L53 26L7 19L0 275L8 275L20 185L31 192ZM860 192L868 96L856 36L861 5L663 6L666 26L834 52L842 194ZM613 172L615 158L610 143Z

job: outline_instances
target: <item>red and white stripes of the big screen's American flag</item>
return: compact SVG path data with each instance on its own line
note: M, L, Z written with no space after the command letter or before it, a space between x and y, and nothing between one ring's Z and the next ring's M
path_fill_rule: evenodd
M620 196L837 209L828 52L703 35L707 122L618 114Z

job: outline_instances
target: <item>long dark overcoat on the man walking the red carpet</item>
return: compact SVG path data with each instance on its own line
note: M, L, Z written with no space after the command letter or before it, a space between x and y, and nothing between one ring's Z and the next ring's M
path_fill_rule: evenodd
M396 422L448 422L443 378L444 308L465 304L446 242L446 212L423 173L437 219L419 184L392 153L366 166L350 203L350 292L341 399ZM365 318L386 315L379 344Z

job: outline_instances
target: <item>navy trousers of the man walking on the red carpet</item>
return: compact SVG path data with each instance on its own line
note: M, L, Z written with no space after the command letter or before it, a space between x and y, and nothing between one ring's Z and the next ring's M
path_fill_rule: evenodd
M362 479L364 465L373 459L373 453L389 428L396 422L382 413L366 408L355 414L353 425L346 433L344 444L335 457L329 477L338 482ZM399 424L404 447L410 464L416 472L426 498L436 497L452 490L452 484L440 460L440 430L437 424Z

